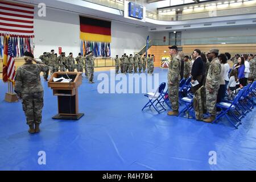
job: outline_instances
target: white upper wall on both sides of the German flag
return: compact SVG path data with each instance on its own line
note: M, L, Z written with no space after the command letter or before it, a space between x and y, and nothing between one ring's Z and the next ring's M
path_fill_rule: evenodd
M35 8L35 57L43 52L49 52L62 47L66 53L73 52L76 56L80 52L80 22L79 14L67 11L47 9L46 17L39 17ZM146 44L147 35L152 38L147 27L137 27L133 24L112 21L111 56L123 53L134 53Z

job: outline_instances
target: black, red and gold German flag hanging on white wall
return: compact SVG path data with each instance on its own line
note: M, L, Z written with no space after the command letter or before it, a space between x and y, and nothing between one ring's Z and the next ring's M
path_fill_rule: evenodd
M92 42L111 42L111 22L79 16L80 39Z

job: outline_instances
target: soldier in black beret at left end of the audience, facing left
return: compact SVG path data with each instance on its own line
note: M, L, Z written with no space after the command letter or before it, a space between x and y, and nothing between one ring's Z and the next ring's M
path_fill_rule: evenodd
M172 111L168 111L168 115L179 114L179 82L180 82L180 68L181 59L177 55L177 46L169 47L171 60L168 68L168 92L169 100L172 105Z

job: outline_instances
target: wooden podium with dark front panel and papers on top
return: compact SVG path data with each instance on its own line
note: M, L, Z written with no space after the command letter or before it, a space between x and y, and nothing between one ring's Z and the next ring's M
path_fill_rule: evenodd
M68 75L68 76L67 76ZM79 113L78 88L82 84L82 72L55 72L48 81L53 89L53 96L58 98L58 114L53 119L78 120L84 113ZM53 81L55 78L71 78L71 82Z

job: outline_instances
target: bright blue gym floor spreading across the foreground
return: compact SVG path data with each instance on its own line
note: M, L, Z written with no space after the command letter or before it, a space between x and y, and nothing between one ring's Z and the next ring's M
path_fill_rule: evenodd
M155 68L159 83L167 69ZM43 81L41 132L29 134L21 102L4 101L7 84L0 81L1 170L255 170L255 109L235 129L225 118L204 123L158 114L142 107L144 94L100 94L84 77L79 88L79 121L54 120L57 97ZM182 108L182 106L181 106ZM39 151L46 165L39 165ZM217 164L209 164L211 151Z

